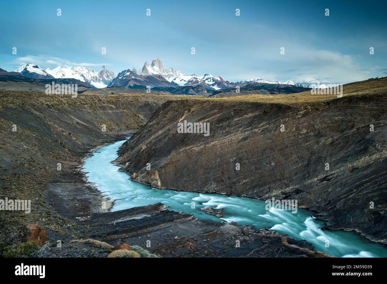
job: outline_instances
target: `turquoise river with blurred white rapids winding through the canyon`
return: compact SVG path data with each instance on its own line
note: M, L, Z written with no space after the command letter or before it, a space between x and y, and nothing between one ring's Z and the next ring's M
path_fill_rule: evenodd
M255 229L271 228L297 240L305 239L313 243L316 250L337 257L387 257L384 245L369 243L353 232L321 230L324 223L315 220L308 210L298 208L296 214L290 210L265 210L266 204L261 200L156 189L131 181L126 172L118 171L119 167L111 163L123 142L125 140L99 148L84 163L87 180L115 200L112 211L161 202L170 206L170 210L192 213L202 220L235 221L240 225L253 225ZM195 202L195 209L191 208L192 202ZM198 211L202 207L223 209L223 218Z

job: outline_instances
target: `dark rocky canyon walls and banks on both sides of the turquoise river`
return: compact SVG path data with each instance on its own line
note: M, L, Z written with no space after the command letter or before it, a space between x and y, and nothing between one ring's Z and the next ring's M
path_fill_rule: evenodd
M109 243L154 232L155 240L164 243L154 253L166 257L176 251L180 256L205 256L209 246L222 240L218 250L227 250L236 237L250 245L243 251L227 250L225 256L249 255L257 245L252 239L260 247L269 240L272 245L271 251L254 250L250 256L327 256L310 243L271 230L250 227L244 235L246 226L198 222L163 205L111 212L114 200L87 182L83 160L93 149L130 135L116 162L134 181L176 191L296 199L299 208L315 211L326 229L353 230L386 243L385 86L386 78L347 84L342 98L310 92L72 98L1 90L0 197L31 199L30 214L3 211L1 227L29 222L46 228L51 238L92 237ZM178 133L178 123L184 120L210 123L209 136ZM17 125L16 132L12 125ZM108 205L105 210L101 202ZM117 226L112 228L112 223ZM186 228L188 239L165 238L168 230L179 228ZM203 235L209 240L204 244ZM126 241L141 244L137 238ZM196 249L188 248L192 244Z

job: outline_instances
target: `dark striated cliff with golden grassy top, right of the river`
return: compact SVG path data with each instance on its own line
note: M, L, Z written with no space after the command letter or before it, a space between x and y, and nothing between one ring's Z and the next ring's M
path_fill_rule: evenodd
M157 188L298 199L327 228L386 243L386 85L385 78L344 85L342 98L168 101L122 145L117 161L132 179ZM209 122L209 136L178 133L184 120Z

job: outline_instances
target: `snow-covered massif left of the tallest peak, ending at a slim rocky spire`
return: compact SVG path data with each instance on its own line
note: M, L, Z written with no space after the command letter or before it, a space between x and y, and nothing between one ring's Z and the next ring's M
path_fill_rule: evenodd
M20 66L15 72L22 73L24 76L36 79L58 79L58 78L74 78L82 82L89 83L96 88L105 88L115 78L112 71L102 67L102 70L98 73L92 68L86 68L83 66L71 66L63 67L58 66L54 69L41 69L35 64L27 64L26 66Z

